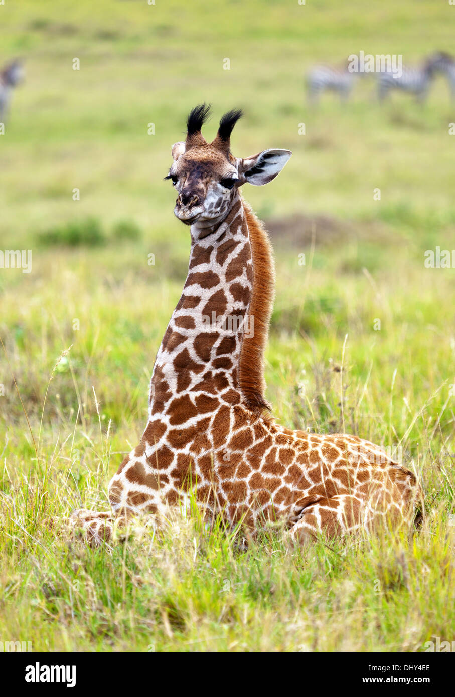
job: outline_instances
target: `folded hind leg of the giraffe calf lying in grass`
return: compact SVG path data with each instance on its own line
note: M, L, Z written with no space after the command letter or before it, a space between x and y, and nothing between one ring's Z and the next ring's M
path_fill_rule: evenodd
M374 511L362 499L348 494L321 498L304 508L302 516L289 530L294 542L309 544L318 535L340 537L360 528L369 529Z

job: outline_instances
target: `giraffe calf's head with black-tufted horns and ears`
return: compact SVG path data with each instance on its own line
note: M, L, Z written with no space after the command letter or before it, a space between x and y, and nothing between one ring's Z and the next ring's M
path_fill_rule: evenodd
M291 157L291 151L264 150L249 158L231 155L231 132L242 112L233 110L219 122L209 144L201 135L210 107L199 105L187 118L185 141L172 146L173 163L167 179L178 192L173 210L178 220L196 229L212 227L229 213L239 186L272 181Z

